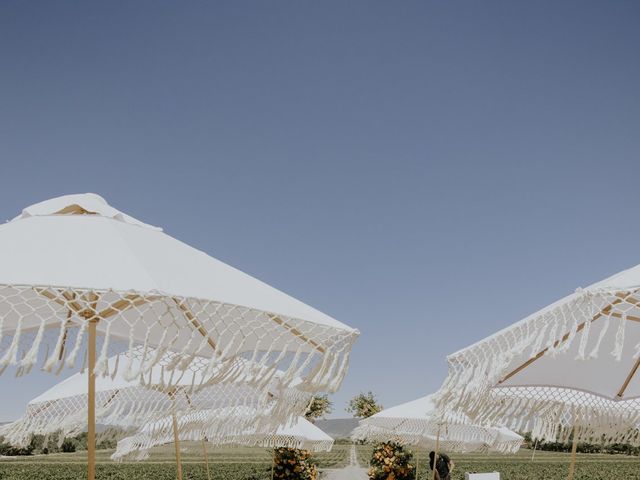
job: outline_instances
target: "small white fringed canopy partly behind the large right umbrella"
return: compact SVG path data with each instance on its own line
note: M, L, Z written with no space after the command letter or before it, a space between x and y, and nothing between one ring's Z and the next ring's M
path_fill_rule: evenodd
M407 445L439 447L454 452L497 451L515 453L523 438L504 427L474 425L466 415L444 414L434 396L412 400L360 421L354 440L397 441Z

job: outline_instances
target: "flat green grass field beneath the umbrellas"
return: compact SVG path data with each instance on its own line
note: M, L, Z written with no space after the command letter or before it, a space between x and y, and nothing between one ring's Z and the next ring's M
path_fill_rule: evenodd
M349 459L349 445L336 445L330 453L315 455L320 468L340 468ZM199 443L182 448L185 480L206 480L206 469ZM367 467L371 447L358 446L358 461ZM99 480L173 480L175 466L171 446L154 449L148 460L139 463L113 463L111 451L98 452ZM211 476L215 480L269 480L271 457L267 449L209 448ZM427 451L419 451L420 478L427 480ZM499 471L503 480L553 480L567 475L566 453L521 450L517 455L452 455L456 469L452 478L461 480L464 472ZM76 480L86 478L84 452L35 455L0 460L2 480ZM622 455L579 454L576 480L640 480L640 458Z

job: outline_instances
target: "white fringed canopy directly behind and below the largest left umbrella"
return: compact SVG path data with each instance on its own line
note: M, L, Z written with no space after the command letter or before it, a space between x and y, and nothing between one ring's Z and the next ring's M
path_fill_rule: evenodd
M141 427L171 414L185 415L202 409L224 411L224 434L242 433L256 419L240 415L247 409L266 411L271 424L288 422L309 405L310 396L295 386L280 384L282 373L278 372L267 391L256 389L254 378L261 377L261 369L251 371L246 360L238 359L238 368L245 373L233 382L210 383L193 391L191 376L182 378L167 387L161 368L154 367L141 385L138 380L126 380L122 370L116 371L118 357L108 361L113 376L96 379L96 419L98 423L122 428ZM134 359L134 363L138 360ZM228 370L227 370L228 372ZM224 410L222 410L224 409ZM26 445L34 434L59 434L59 441L85 430L87 425L87 372L76 373L54 385L27 405L24 415L15 422L0 427L0 435L14 445ZM209 435L214 436L213 428Z

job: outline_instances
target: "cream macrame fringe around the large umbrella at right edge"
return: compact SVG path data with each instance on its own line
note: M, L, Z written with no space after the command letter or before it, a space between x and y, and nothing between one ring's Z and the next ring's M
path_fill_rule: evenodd
M522 395L529 395L528 400L512 400L508 398L508 389L516 387L507 387L508 384L503 385L502 380L513 371L513 359L520 358L522 352L529 353L528 358L536 357L543 351L552 356L567 354L573 351L570 349L578 336L580 339L574 354L576 359L597 357L605 344L613 344L611 354L616 361L630 357L631 355L623 357L625 332L628 328L626 324L629 321L627 312L636 308L630 296L639 291L640 289L631 292L610 289L578 290L561 303L554 304L483 342L450 355L447 378L436 396L437 406L451 411L463 411L474 423L504 421L522 426L537 421L536 428L540 435L544 439L553 440L554 436L564 438L567 435L566 428L552 428L554 422L567 425L572 430L573 425L569 421L572 418L571 411L584 401L588 405L578 408L575 418L582 425L592 424L593 428L581 427L578 432L581 439L600 439L604 436L608 439L637 442L638 435L631 428L635 428L633 422L637 425L640 420L640 408L637 406L635 412L629 413L629 409L624 408L620 402L600 397L587 399L588 393L569 393L568 389L568 393L563 394L566 398L562 397L566 401L553 402L543 397L531 397L524 390ZM631 300L627 301L627 298ZM619 319L615 332L610 327L612 317ZM592 323L596 320L598 329L594 332ZM612 339L611 342L609 338ZM635 345L633 351L634 358L639 356L640 343ZM498 393L492 392L504 394L497 397ZM582 400L580 395L585 399ZM631 399L625 403L633 401ZM640 405L640 400L637 403ZM546 417L536 420L542 415Z

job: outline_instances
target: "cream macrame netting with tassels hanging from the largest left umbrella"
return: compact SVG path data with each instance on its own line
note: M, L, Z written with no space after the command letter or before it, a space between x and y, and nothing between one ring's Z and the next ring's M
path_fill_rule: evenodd
M54 372L79 361L84 365L87 323L92 320L101 336L97 375L113 374L107 372L107 359L114 350L139 360L115 366L125 369L127 379L144 377L171 352L172 361L161 365L163 383L190 375L194 390L216 381L214 376L226 381L242 376L237 368L220 371L226 359L242 356L270 369L271 375L283 371L284 384L302 379L301 389L333 391L342 382L357 338L354 330L210 300L0 285L0 372L15 366L19 375L25 374L38 362ZM270 375L262 379L265 385L269 381Z

